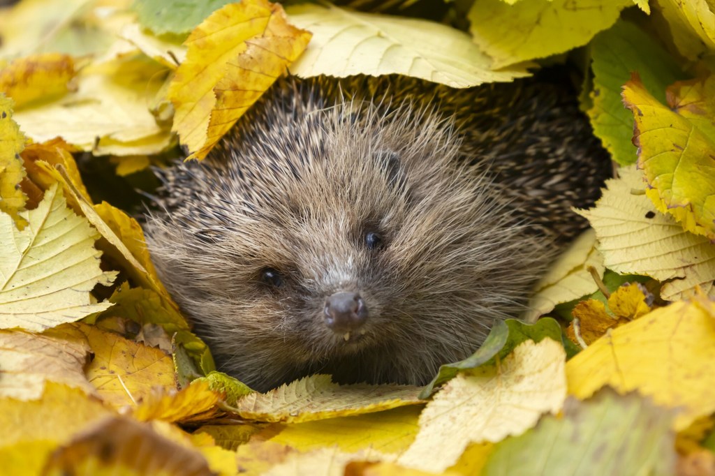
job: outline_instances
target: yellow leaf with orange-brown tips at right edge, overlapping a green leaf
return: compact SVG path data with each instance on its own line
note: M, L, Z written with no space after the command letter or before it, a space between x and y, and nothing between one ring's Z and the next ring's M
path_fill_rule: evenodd
M633 112L638 166L648 196L689 232L715 239L715 75L668 88L668 106L655 99L638 76L623 86Z

